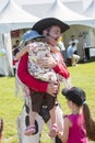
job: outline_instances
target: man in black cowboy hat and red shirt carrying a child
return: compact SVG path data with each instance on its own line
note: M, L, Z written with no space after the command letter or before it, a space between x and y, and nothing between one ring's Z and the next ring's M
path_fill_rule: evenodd
M52 26L54 26L54 29L52 29ZM44 33L44 35L46 37L45 38L46 42L51 40L52 45L57 44L57 40L60 37L60 34L68 29L69 29L69 25L64 24L63 22L61 22L55 18L43 19L33 26L33 30L39 32L39 34ZM19 76L20 80L22 82L24 82L27 87L29 87L32 90L41 92L44 95L48 94L48 96L55 96L55 94L57 94L57 91L58 91L59 85L48 84L48 82L40 81L40 80L37 80L34 77L32 77L27 72L27 61L28 61L27 54L24 55L20 61L19 68L17 68L17 76ZM60 70L60 73L64 74L67 78L70 76L69 72L67 72L67 67L66 67L64 63L62 63L63 65L61 63L58 64L51 57L49 59L44 59L43 62L39 62L39 64L44 67L54 68L56 72ZM36 130L38 132L35 135L32 135L31 138L28 138L23 134L24 130L25 130L25 125L28 124L28 101L25 102L23 112L19 117L19 127L21 127L19 130L20 130L20 135L22 136L20 143L32 143L32 142L39 143L39 136L41 134L44 121L47 124L49 124L49 128L50 128L50 119L49 119L49 114L47 111L47 106L46 105L41 106L43 110L39 113L40 116L38 114L36 118L35 124L36 124ZM26 110L26 112L25 112L25 110ZM60 128L60 130L62 130L62 128L63 128L62 111L59 108L59 105L57 105L57 117L58 117L59 128ZM61 143L61 141L59 139L54 139L54 142Z

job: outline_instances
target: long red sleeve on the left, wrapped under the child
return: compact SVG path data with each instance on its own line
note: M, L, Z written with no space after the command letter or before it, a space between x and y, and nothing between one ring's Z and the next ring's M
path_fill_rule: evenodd
M19 78L23 84L25 84L32 90L46 92L48 84L45 81L37 80L28 74L27 61L28 61L28 55L25 54L19 63L19 68L17 68Z

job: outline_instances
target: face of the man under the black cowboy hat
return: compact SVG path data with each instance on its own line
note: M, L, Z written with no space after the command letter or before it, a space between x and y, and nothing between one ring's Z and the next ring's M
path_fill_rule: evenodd
M49 35L57 41L61 35L60 28L57 25L51 26L49 30Z

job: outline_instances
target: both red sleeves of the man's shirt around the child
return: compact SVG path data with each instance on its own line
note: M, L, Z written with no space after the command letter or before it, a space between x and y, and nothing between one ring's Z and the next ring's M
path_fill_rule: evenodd
M39 92L46 92L48 82L37 80L28 74L27 61L28 61L28 54L25 54L19 63L19 67L17 67L19 78L21 79L21 81L23 84L25 84L32 90L39 91ZM58 64L54 69L58 74L64 76L66 78L68 78L70 76L64 62L62 64Z

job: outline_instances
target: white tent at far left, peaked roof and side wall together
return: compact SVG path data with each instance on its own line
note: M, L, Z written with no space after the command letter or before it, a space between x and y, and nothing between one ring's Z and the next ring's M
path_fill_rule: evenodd
M0 56L0 75L13 75L10 31L32 28L38 20L37 16L20 9L12 0L0 9L0 50L7 51L4 55Z

